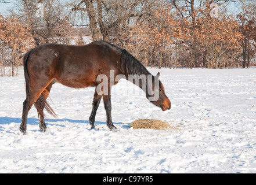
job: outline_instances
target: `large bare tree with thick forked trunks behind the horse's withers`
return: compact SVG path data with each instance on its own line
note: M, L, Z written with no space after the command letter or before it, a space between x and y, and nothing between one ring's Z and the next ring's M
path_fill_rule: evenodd
M110 40L109 31L118 25L140 19L156 5L153 0L79 0L70 3L72 14L86 22L93 40Z

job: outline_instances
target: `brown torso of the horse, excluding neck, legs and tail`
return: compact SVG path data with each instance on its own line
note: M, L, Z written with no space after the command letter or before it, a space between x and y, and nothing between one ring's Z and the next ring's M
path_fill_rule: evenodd
M89 45L46 44L30 51L28 70L35 78L51 78L64 86L97 86L96 78L118 69L120 50L107 42Z

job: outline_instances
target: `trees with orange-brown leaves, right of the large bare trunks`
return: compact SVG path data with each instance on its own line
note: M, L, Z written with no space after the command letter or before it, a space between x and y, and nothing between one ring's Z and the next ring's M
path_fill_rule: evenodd
M204 1L193 17L191 13L182 16L185 9L162 5L110 40L132 51L144 65L248 68L255 62L255 10L243 8L236 16L212 10L209 1Z

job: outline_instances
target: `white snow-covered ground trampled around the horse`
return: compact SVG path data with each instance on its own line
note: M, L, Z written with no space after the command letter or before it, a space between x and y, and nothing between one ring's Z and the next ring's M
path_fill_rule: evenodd
M55 84L50 97L60 120L38 128L35 108L27 135L19 131L25 99L23 72L0 77L0 173L256 173L256 68L149 69L172 102L162 112L125 80L114 88L106 125L88 124L94 88ZM159 119L173 129L132 129L136 119Z

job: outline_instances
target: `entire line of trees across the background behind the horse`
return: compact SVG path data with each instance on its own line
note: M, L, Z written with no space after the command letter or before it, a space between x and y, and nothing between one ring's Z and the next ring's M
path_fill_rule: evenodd
M228 15L227 3L243 3ZM3 1L5 2L5 1ZM2 2L2 3L3 3ZM17 0L0 16L0 73L16 75L24 53L44 43L84 44L83 36L127 49L143 65L255 65L253 0ZM1 5L1 2L0 2ZM85 29L86 28L86 29ZM5 66L11 66L6 72Z

